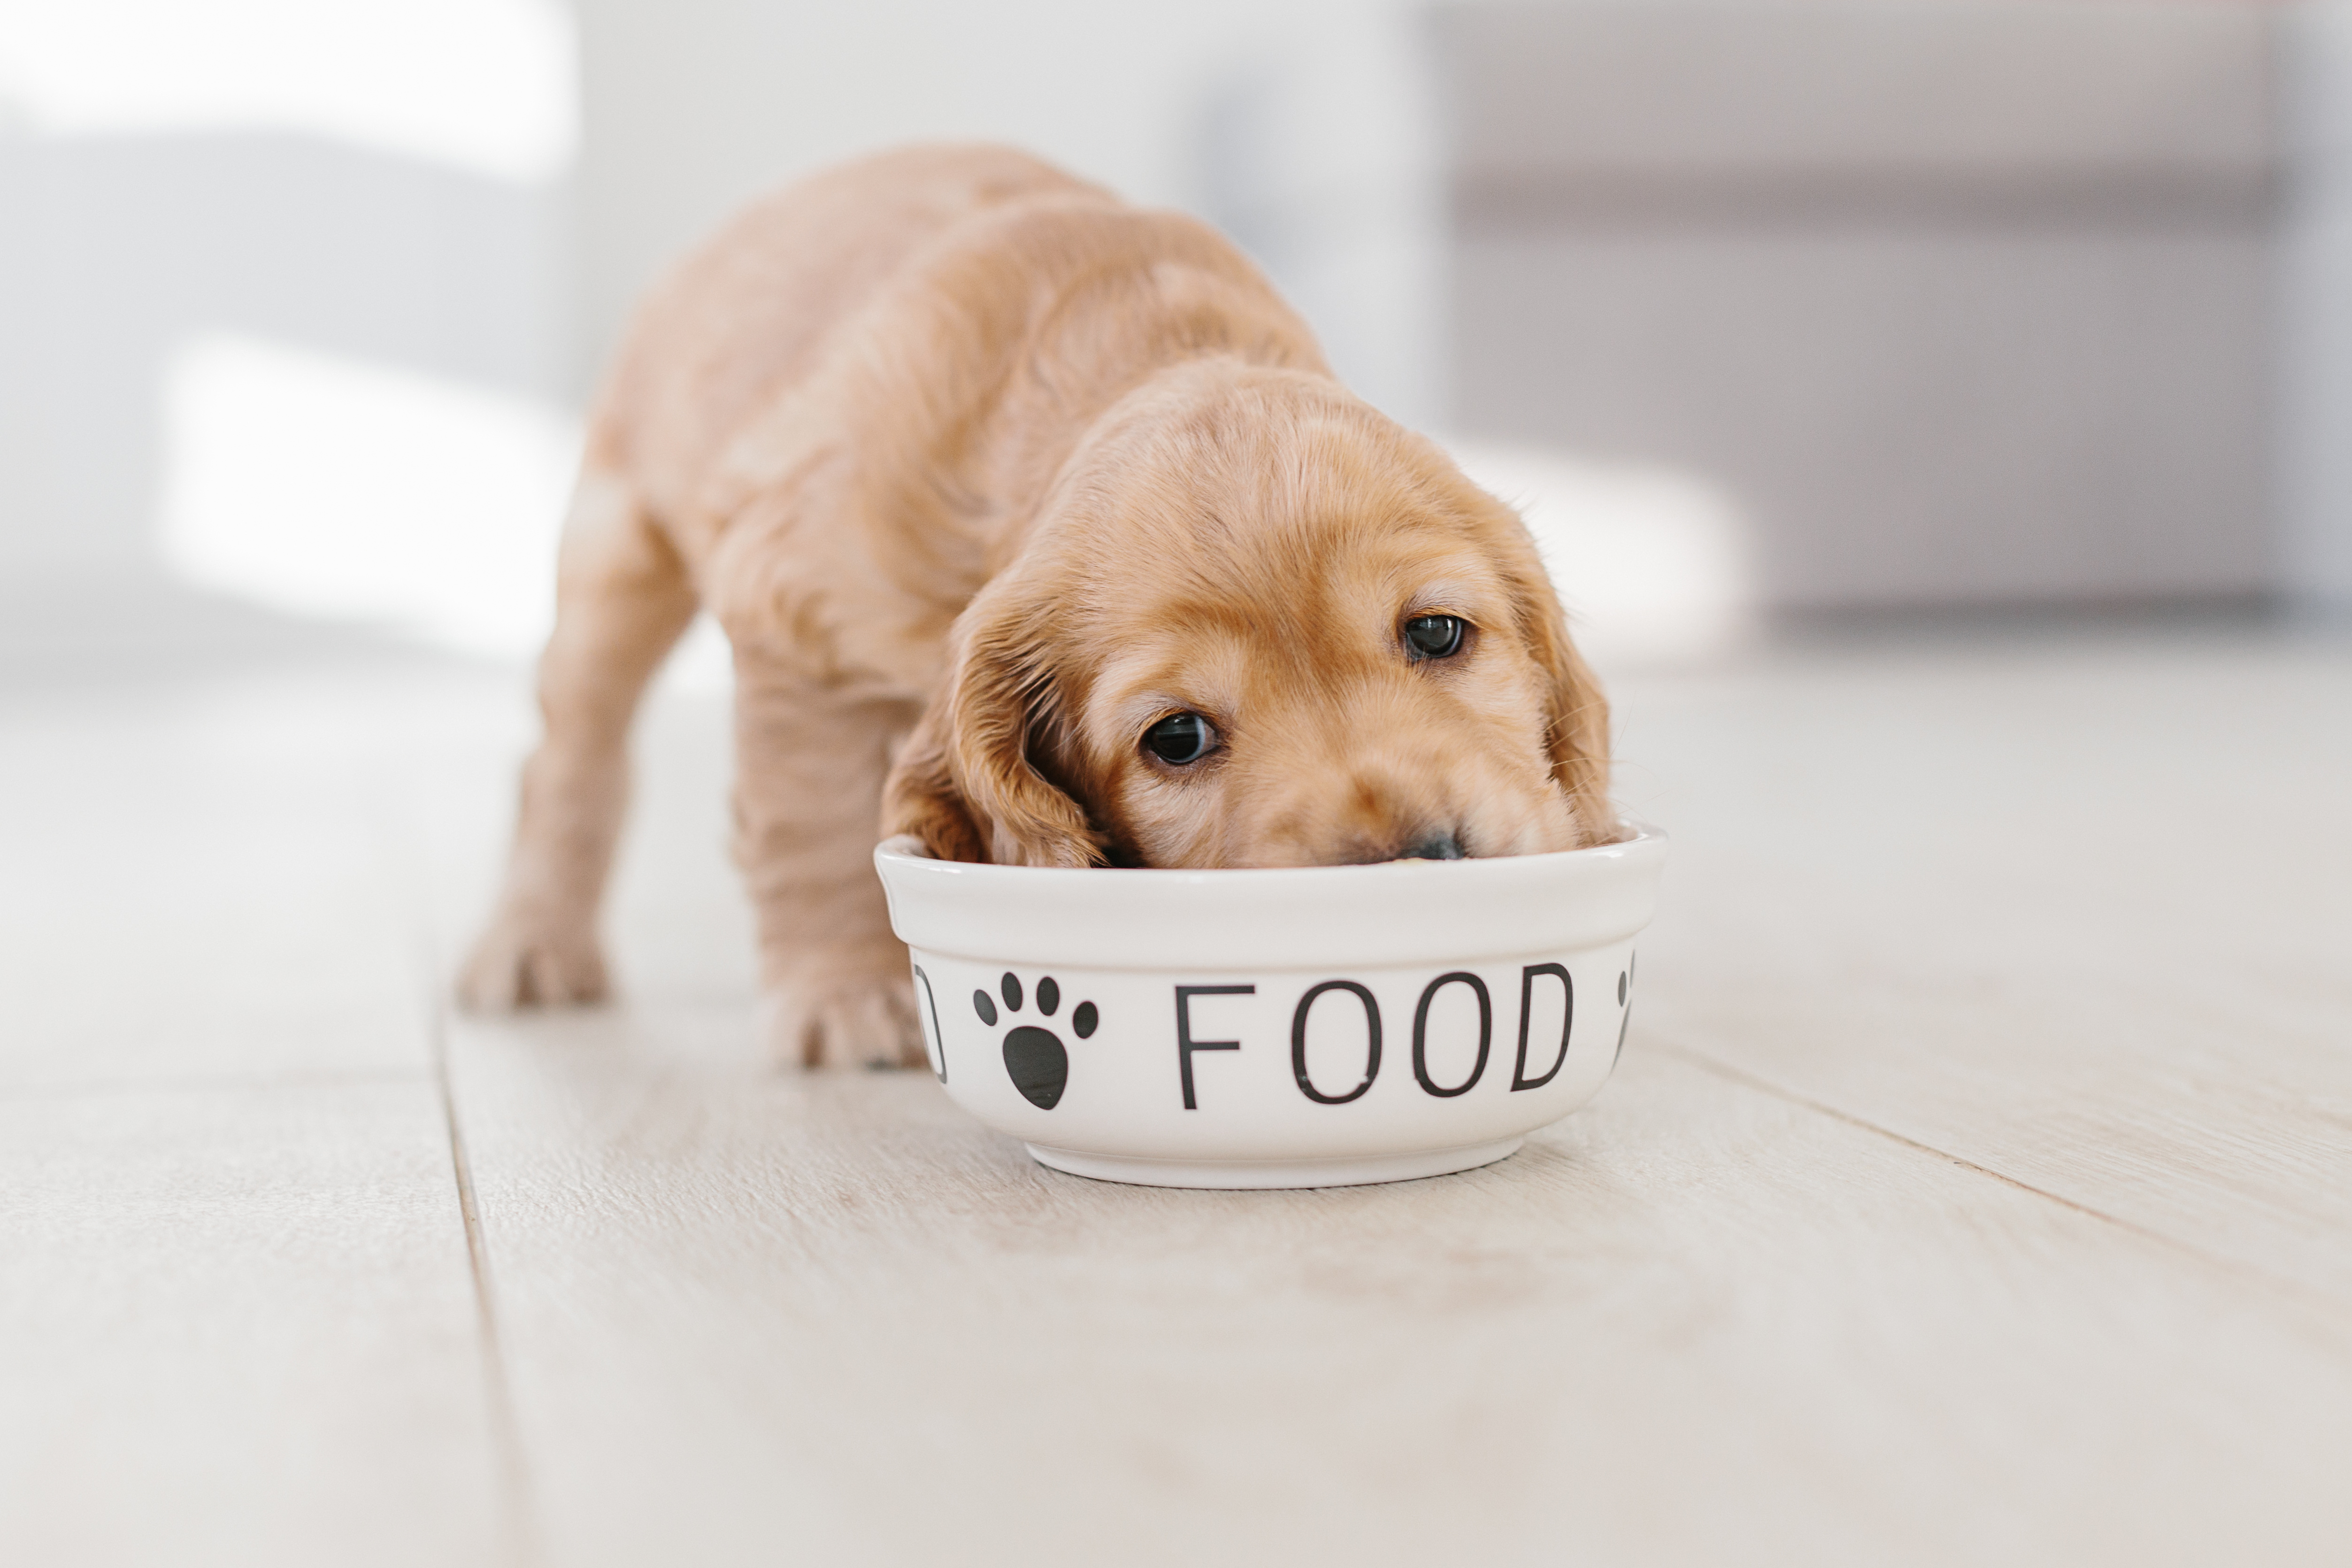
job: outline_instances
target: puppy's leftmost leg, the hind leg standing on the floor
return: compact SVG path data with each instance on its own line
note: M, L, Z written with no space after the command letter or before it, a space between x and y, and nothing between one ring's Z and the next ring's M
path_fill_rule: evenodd
M555 632L539 658L546 738L522 766L522 811L489 929L459 976L477 1011L604 997L597 903L628 806L628 722L694 621L694 588L616 477L588 468L564 520Z

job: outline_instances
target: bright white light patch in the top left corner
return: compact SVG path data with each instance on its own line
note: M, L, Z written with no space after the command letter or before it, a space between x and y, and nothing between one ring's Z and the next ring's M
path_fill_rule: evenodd
M579 141L562 0L0 0L35 136L289 129L513 181Z

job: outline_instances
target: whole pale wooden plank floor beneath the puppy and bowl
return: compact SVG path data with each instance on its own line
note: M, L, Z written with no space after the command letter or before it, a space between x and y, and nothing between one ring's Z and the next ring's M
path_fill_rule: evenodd
M1486 1171L1160 1192L750 1046L724 724L628 1004L442 1006L520 677L0 691L0 1561L2352 1561L2352 654L1623 679L1618 1081Z

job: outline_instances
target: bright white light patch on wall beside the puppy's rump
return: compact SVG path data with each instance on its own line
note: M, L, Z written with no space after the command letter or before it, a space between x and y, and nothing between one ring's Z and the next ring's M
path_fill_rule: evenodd
M517 397L200 336L165 371L162 557L287 614L527 656L576 461L574 423Z

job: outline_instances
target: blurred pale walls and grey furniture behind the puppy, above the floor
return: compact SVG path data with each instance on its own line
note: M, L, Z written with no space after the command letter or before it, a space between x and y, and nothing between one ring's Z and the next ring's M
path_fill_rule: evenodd
M2352 604L2347 5L0 0L0 637L529 654L630 301L934 136L1223 223L1604 665Z

